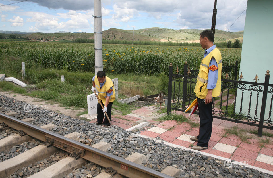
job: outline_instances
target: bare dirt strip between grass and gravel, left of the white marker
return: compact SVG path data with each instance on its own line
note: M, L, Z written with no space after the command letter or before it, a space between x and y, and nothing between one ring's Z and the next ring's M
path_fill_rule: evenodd
M14 98L18 101L32 104L32 105L42 105L42 106L45 106L47 110L52 110L54 112L62 113L72 118L80 118L79 116L77 116L77 114L86 111L86 109L83 109L83 108L80 108L79 110L75 110L75 108L69 107L69 109L66 109L65 107L59 106L59 104L57 104L54 101L42 100L39 98L29 97L29 96L25 96L25 95L13 93L13 92L0 91L0 94L10 98Z

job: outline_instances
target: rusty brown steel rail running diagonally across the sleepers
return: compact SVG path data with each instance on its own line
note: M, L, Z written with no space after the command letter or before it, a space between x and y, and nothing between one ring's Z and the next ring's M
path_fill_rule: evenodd
M81 158L91 161L103 167L113 167L117 172L126 177L166 177L171 176L164 173L149 169L145 166L136 164L134 162L119 158L113 154L109 154L102 150L87 146L78 141L66 138L51 131L47 131L36 125L21 121L6 114L0 113L0 122L4 122L9 127L16 130L23 130L29 136L39 139L41 141L48 141L49 144L65 150L70 153L76 153Z

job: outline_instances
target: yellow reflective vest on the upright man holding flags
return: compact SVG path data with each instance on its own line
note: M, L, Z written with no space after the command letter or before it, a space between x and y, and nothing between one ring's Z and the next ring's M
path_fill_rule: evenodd
M197 83L195 85L195 96L205 99L208 94L208 70L211 58L214 57L218 64L218 79L216 87L212 89L212 97L217 97L221 94L221 72L222 72L222 56L218 48L214 48L202 61L197 76Z

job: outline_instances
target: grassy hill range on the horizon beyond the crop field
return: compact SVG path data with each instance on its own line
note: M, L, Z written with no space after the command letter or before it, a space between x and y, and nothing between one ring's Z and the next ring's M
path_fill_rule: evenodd
M0 31L1 32L1 31ZM11 31L14 32L14 31ZM202 30L185 29L174 30L167 28L145 28L134 30L134 41L161 41L161 42L197 42L199 43L199 34ZM9 37L11 33L1 33L3 37ZM49 40L75 40L78 38L94 39L94 33L71 33L71 32L56 32L56 33L21 33L16 34L17 37L28 37L29 39L49 39ZM102 39L105 40L127 40L132 41L133 30L122 30L117 28L110 28L103 31ZM240 32L225 32L222 30L215 31L215 42L223 42L226 40L234 41L235 39L242 41L243 31Z

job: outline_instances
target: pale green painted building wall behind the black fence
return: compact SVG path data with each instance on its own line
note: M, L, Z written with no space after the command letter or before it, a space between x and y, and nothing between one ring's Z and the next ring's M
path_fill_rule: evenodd
M273 1L248 0L241 54L240 73L243 81L253 80L258 74L258 82L264 83L266 71L270 71L270 82L273 83ZM249 87L249 85L247 85ZM269 89L272 87L269 87ZM262 87L263 89L263 87ZM268 118L271 94L268 93L265 120ZM239 113L241 104L241 90L238 90L236 113ZM250 92L245 91L243 97L243 114L247 115ZM257 116L260 117L262 92L259 93ZM252 94L251 116L255 115L257 92ZM271 117L272 118L272 117ZM272 119L273 120L273 119Z

